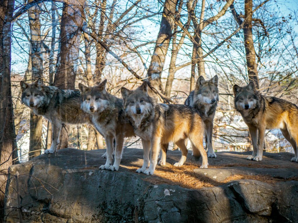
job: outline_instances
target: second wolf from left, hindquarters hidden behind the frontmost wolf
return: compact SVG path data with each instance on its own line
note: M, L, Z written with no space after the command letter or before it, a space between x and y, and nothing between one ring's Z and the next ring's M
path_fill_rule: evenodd
M105 138L107 160L105 165L101 165L99 168L118 171L124 138L135 136L135 134L134 128L124 115L123 100L109 94L106 91L106 84L106 79L94 87L79 84L81 109L91 115L95 128L103 133ZM113 138L115 138L116 146L115 161L112 165Z

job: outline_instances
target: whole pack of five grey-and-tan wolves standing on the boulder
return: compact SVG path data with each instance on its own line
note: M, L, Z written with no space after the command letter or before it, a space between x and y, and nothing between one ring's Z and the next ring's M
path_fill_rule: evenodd
M52 124L52 145L44 153L56 152L64 123L89 123L106 143L106 162L100 169L119 170L124 139L132 136L139 136L143 146L143 165L136 170L138 173L153 175L157 164L165 165L169 142L181 150L181 158L174 166L180 167L186 161L187 140L192 144L192 155L202 157L200 168L208 167L208 157L216 158L212 131L219 101L217 75L210 80L200 76L183 105L157 103L148 93L147 81L135 90L122 87L122 98L110 94L106 85L107 80L94 87L79 84L77 91L46 86L41 78L31 84L20 82L22 103ZM295 151L291 161L298 162L298 107L287 100L262 95L254 82L244 87L234 85L233 92L235 109L252 137L253 153L247 159L261 161L266 129L280 128Z

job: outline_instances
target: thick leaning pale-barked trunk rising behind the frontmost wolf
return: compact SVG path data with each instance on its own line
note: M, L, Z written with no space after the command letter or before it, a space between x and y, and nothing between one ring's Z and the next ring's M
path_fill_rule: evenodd
M175 11L178 0L165 0L162 21L156 40L153 56L148 68L147 76L152 87L161 90L161 74L164 68L164 61L172 37L172 30L175 23Z

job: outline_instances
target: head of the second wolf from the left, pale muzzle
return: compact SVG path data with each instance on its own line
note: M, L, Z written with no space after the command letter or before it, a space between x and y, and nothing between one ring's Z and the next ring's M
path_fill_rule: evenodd
M107 80L94 87L79 84L81 92L81 109L86 113L103 112L109 105L106 91Z

